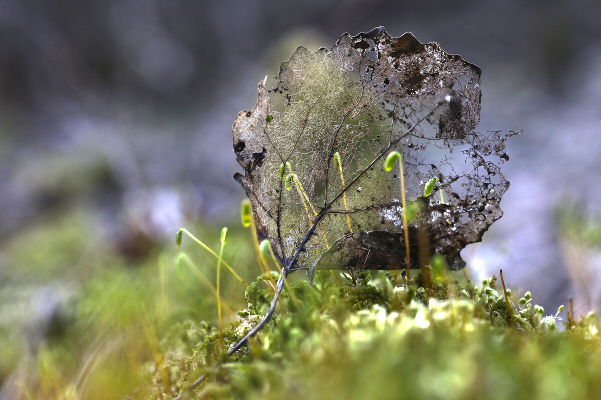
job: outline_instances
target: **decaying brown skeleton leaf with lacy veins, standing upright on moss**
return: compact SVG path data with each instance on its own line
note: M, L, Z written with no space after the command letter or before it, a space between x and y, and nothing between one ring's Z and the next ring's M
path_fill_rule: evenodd
M405 268L403 212L410 267L435 253L465 266L461 249L501 217L509 186L499 165L511 134L473 131L480 73L438 43L376 28L299 47L273 88L259 83L234 122L234 179L287 273ZM398 168L383 167L391 151L403 155L407 210Z

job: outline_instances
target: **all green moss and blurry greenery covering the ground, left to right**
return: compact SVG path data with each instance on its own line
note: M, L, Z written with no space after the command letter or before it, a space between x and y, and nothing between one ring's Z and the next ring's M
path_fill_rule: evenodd
M272 271L256 279L248 228L228 231L221 257L182 240L179 252L156 245L147 257L128 261L100 239L87 244L89 238L76 234L78 221L85 223L79 213L45 221L44 229L14 237L4 248L8 261L26 259L32 270L40 268L40 282L77 285L33 350L20 344L18 329L2 324L1 377L16 374L22 399L601 395L594 314L545 312L529 293L509 290L508 307L499 279L468 284L441 258L425 270L428 279L424 271L414 274L407 288L404 272L344 273L341 288L328 270L316 272L313 287L302 272L290 275L291 291L282 291L273 320L227 357L228 347L266 313L279 277ZM225 243L218 229L191 231L209 248ZM26 251L31 240L47 245L32 254ZM70 255L62 269L53 261L60 249ZM44 255L47 270L39 261ZM271 258L267 249L270 265ZM230 272L221 274L222 332L211 288L218 263L252 282L246 287ZM9 278L16 285L32 276L15 270ZM7 321L7 307L2 312Z

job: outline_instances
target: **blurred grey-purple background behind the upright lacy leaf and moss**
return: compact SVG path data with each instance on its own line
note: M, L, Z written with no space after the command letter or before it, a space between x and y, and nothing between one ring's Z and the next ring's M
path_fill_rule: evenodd
M5 340L35 348L90 276L172 257L182 226L218 243L244 198L230 128L258 81L297 46L376 26L480 66L478 130L523 130L505 215L462 253L472 279L502 268L548 314L568 296L577 315L599 308L599 1L3 0Z

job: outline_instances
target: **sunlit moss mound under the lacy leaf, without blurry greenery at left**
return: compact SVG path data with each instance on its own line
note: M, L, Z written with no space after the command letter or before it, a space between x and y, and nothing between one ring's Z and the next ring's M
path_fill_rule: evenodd
M328 273L293 285L300 307L282 293L278 316L229 359L271 299L258 282L224 345L207 323L174 327L151 398L601 398L592 313L561 329L559 311L544 317L529 293L513 302L508 291L508 306L496 277L462 285L435 272L405 288L404 276L365 273L339 288Z

